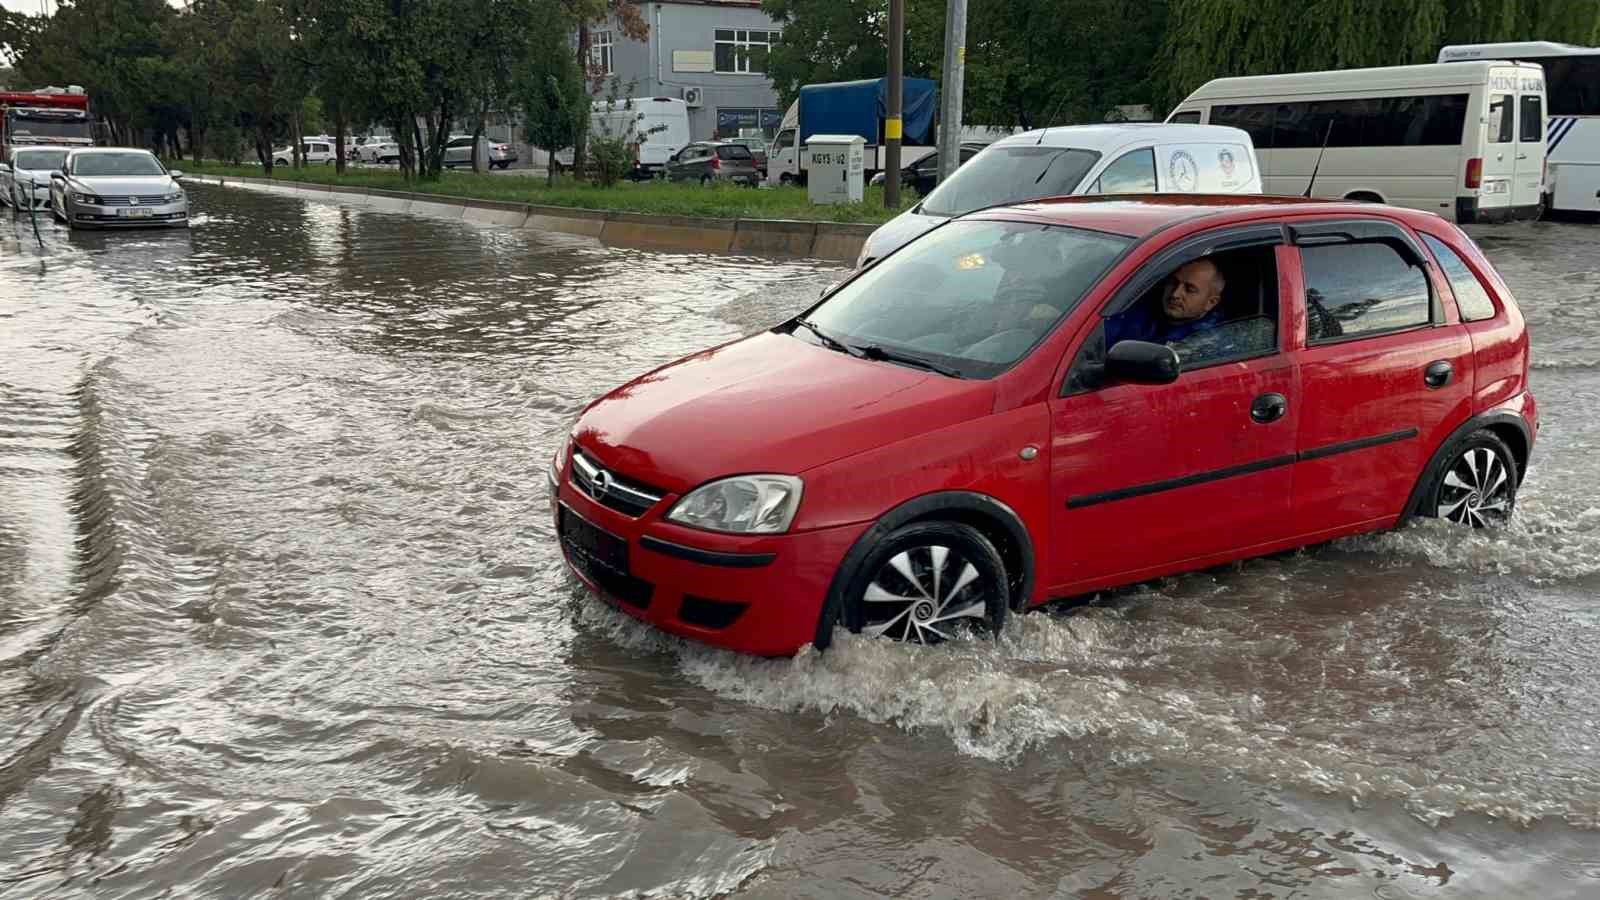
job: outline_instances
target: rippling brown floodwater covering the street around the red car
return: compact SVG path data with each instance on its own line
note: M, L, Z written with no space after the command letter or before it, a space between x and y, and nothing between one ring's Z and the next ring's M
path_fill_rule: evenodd
M1475 231L1509 532L752 660L581 591L544 469L837 266L194 195L0 226L0 894L1600 895L1600 226Z

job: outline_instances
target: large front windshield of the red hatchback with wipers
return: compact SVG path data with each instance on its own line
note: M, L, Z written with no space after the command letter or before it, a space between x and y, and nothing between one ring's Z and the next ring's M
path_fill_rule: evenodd
M1066 226L952 221L838 288L795 335L989 378L1050 333L1130 243Z

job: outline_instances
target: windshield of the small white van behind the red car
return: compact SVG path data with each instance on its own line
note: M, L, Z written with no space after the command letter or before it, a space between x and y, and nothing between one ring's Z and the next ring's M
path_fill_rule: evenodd
M960 216L995 203L1072 194L1098 159L1096 151L1077 147L990 147L939 183L922 211Z

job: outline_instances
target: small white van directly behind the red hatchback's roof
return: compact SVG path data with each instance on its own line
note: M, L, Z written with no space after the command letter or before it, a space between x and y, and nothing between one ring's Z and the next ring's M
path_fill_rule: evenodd
M1066 125L995 141L861 247L856 266L984 207L1066 194L1261 194L1250 135L1216 125Z

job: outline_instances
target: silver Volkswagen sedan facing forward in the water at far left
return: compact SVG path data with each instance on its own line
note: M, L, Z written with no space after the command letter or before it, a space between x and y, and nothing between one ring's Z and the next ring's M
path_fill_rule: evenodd
M189 227L189 194L150 151L72 151L50 173L50 211L67 227Z

